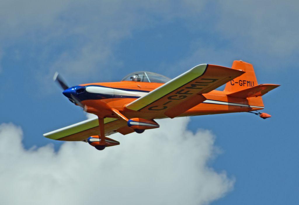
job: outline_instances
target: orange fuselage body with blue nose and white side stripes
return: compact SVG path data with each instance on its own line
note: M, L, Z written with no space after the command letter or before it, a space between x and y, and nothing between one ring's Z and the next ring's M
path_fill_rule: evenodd
M163 84L164 83L134 81L89 83L69 88L64 91L64 95L69 99L71 99L70 94L76 96L76 98L86 106L87 112L101 115L102 117L115 117L111 112L111 108L115 108L128 118L141 117L145 119L159 119L167 117L162 111L159 112L159 108L156 108L157 112L151 112L149 114L144 111L138 112L129 110L125 106ZM179 116L247 112L263 109L263 105L260 104L261 97L241 99L228 97L227 94L229 94L229 92L217 90L203 94L207 100ZM178 94L174 100L181 99L184 98ZM162 107L160 109L162 109Z

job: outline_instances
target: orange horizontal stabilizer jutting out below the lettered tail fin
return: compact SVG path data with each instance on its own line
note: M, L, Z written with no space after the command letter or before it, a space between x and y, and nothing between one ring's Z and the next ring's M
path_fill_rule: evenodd
M244 90L228 94L227 96L237 97L237 98L258 97L268 93L269 91L273 90L274 88L277 88L278 86L280 85L261 84L261 85L256 85L251 88L246 88Z

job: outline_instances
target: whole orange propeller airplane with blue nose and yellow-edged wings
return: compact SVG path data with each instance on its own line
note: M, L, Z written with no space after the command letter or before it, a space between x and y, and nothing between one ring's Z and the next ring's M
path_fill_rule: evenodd
M201 64L174 79L147 71L133 72L120 82L68 87L56 72L63 94L84 111L97 115L44 134L53 140L88 142L98 150L119 145L108 138L119 132L143 133L159 128L155 119L250 112L266 119L262 96L280 85L258 84L254 68L242 60L231 68ZM215 90L225 84L223 91Z

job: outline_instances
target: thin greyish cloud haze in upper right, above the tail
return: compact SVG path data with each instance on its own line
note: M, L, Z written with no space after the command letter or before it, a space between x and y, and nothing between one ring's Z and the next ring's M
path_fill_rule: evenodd
M290 69L288 62L298 56L298 7L293 0L215 1L205 7L205 16L186 18L190 30L205 33L192 39L187 57L160 67L174 72L200 63L230 67L242 59L269 73Z

